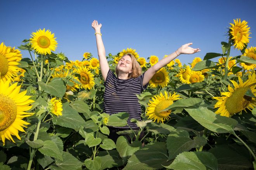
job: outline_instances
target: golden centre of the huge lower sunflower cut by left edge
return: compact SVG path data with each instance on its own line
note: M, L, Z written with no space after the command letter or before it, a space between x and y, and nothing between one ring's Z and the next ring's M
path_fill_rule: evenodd
M17 105L9 97L0 94L0 131L11 126L16 119Z

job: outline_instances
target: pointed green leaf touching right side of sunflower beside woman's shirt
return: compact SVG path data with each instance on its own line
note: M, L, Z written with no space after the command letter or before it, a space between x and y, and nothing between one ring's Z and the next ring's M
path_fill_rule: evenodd
M202 103L201 98L180 99L162 111L185 109L185 108L198 108L201 103Z

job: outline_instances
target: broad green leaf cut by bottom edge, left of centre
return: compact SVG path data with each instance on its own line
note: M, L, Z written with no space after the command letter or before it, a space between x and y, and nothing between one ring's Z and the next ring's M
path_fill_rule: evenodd
M49 168L51 170L77 170L83 165L82 162L68 152L62 152L62 158L63 160L55 159L55 164Z

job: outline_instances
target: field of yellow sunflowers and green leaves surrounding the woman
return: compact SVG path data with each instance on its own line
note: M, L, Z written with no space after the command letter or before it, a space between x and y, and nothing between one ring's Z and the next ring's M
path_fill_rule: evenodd
M131 121L140 129L118 132L116 143L108 127L127 126L129 114L103 112L97 58L55 54L56 37L45 29L19 49L0 42L0 169L255 169L256 47L248 46L245 20L228 29L221 53L183 65L175 59L157 71L137 95L142 121ZM231 56L233 48L241 54ZM159 61L127 48L106 56L111 70L126 53L143 71Z

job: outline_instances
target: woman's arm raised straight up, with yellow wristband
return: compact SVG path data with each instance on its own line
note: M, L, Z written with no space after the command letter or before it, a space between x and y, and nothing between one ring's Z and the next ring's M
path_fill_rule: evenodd
M106 58L106 51L105 47L102 41L102 34L100 33L101 24L98 24L97 20L94 20L92 22L92 27L95 30L95 36L96 36L96 43L97 43L97 49L98 49L98 56L99 56L99 62L100 62L100 70L102 77L104 79L104 82L106 82L107 78L107 72L109 71L109 64L107 63Z

